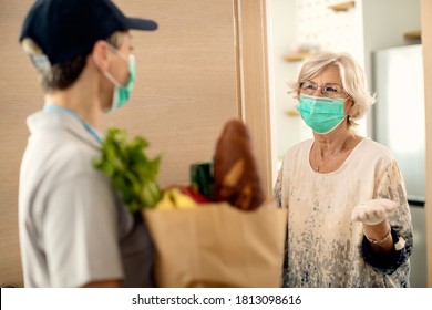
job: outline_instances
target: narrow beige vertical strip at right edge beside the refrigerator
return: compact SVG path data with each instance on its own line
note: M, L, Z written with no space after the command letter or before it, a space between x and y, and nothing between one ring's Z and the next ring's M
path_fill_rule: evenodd
M428 287L432 288L432 1L422 0L421 11L426 124L426 259Z

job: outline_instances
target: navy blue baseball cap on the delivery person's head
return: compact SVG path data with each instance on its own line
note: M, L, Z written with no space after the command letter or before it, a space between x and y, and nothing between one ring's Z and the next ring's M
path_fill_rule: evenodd
M37 0L22 24L20 41L32 39L51 64L89 54L115 31L156 30L153 20L127 18L111 0Z

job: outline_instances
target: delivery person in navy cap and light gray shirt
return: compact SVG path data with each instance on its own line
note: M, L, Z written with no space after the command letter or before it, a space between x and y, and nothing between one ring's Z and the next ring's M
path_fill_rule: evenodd
M20 42L44 91L20 170L25 287L153 286L148 232L92 161L101 115L124 105L135 82L128 30L156 28L110 0L38 0L25 17Z

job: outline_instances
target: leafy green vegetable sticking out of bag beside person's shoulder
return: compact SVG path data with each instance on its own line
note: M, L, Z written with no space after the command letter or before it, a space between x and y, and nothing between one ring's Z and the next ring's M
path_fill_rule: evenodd
M148 158L144 153L148 145L143 137L130 141L126 131L110 128L102 143L102 157L94 159L94 166L112 179L131 213L153 208L162 196L156 183L161 156Z

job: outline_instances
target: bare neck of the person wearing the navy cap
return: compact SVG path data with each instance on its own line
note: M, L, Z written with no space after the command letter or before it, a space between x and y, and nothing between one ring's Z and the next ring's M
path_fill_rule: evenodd
M99 100L85 84L76 82L66 90L45 94L45 105L70 108L94 128L99 127Z

